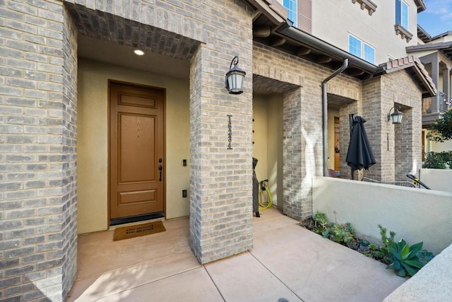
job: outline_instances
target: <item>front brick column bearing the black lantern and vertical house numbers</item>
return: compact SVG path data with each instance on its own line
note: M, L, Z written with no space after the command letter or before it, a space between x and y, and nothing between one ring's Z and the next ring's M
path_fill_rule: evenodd
M240 95L225 88L234 55L201 46L191 60L190 244L201 263L244 252L253 244L249 47L239 57L247 73Z

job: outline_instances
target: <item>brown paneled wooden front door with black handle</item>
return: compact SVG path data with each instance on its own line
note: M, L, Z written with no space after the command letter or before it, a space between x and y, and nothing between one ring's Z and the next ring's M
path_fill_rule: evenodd
M110 225L164 216L163 90L110 82Z

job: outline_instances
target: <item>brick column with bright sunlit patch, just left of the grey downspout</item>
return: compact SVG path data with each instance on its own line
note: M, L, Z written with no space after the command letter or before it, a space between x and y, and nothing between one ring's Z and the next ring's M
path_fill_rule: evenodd
M319 99L316 81L284 94L283 212L294 219L312 215L312 178L323 175Z

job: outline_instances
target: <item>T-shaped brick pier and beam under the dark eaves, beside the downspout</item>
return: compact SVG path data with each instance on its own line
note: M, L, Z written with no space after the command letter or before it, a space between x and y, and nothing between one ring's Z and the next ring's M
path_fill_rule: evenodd
M299 86L283 93L283 211L306 218L312 214L311 178L323 174L321 82L333 71L254 42L253 73ZM357 99L362 84L340 74L328 82L328 93Z

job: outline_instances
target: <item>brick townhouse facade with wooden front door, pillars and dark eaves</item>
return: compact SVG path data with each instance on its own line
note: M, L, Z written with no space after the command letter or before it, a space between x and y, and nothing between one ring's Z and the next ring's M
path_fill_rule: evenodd
M367 28L396 11L368 0L328 2ZM309 16L311 2L298 3ZM416 40L412 24L424 6L403 3L402 21L387 25L397 42L387 44ZM365 175L398 180L421 161L422 97L435 95L432 79L419 60L379 45L381 37L373 40L358 23L343 30L336 47L292 26L278 2L2 5L1 299L64 300L76 278L77 233L126 221L190 216L191 248L201 263L252 248L253 156L275 204L295 219L311 216L311 179L327 163L321 84L345 59L347 69L328 81L324 108L330 120L338 116L332 124L341 177L350 178L351 113L368 120L377 163ZM313 34L321 30L318 9L313 4ZM408 28L397 23L406 25L403 16L412 21ZM375 64L348 52L349 34L362 39L364 59L365 45L374 47ZM246 71L239 95L225 89L234 56ZM405 113L397 126L386 118L394 106Z

